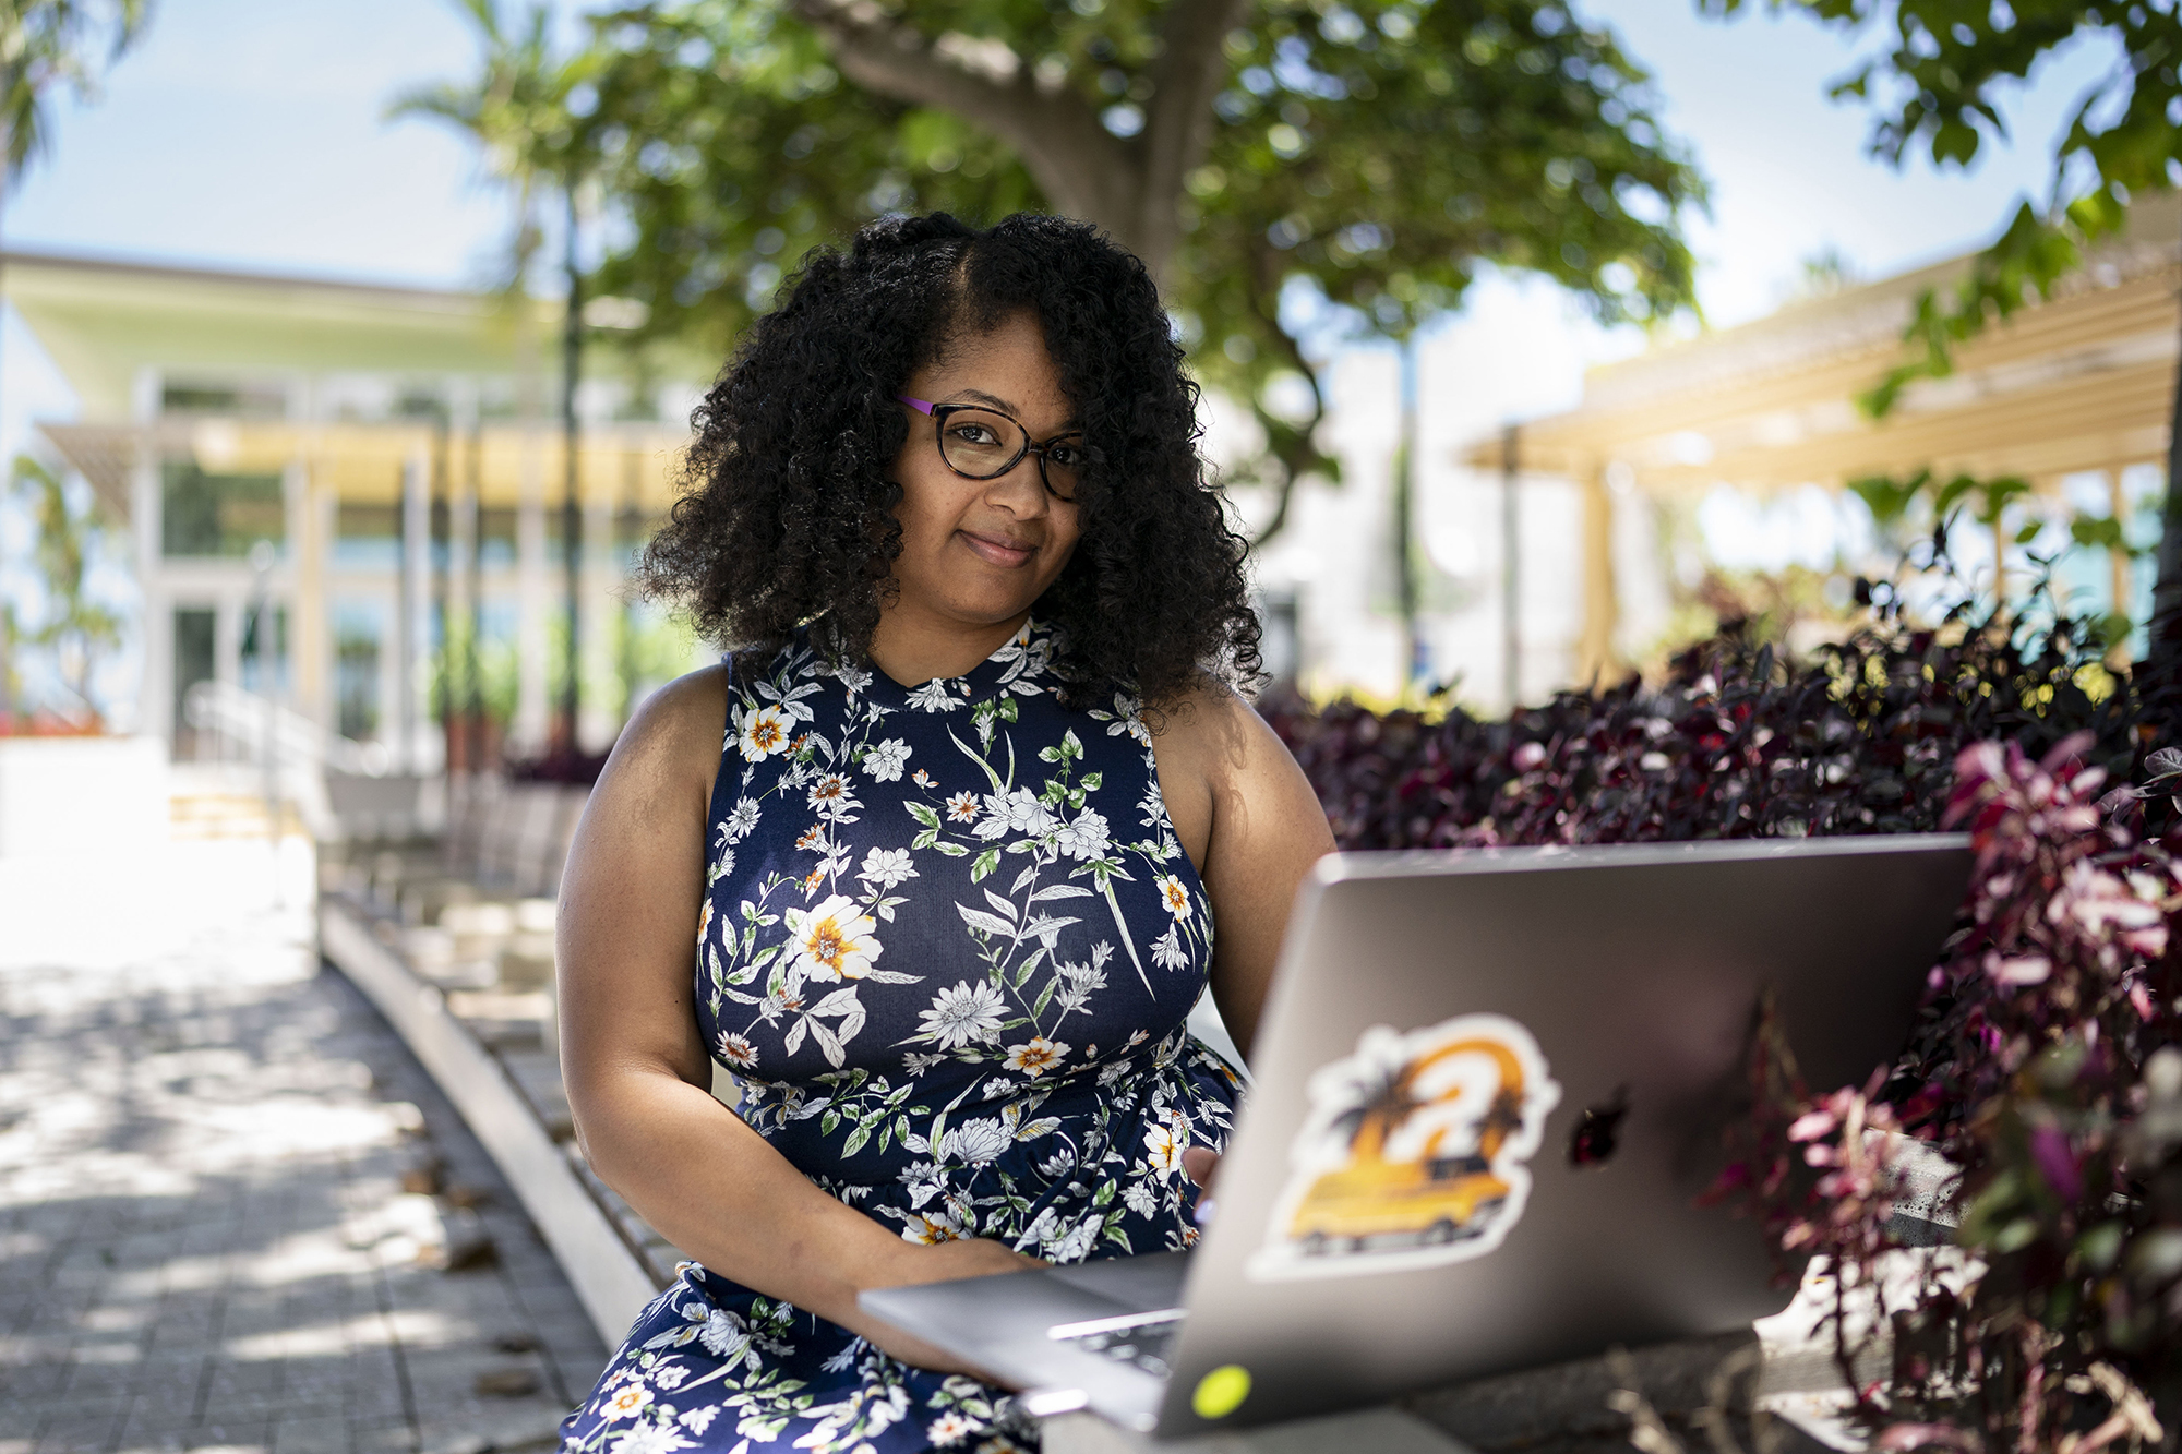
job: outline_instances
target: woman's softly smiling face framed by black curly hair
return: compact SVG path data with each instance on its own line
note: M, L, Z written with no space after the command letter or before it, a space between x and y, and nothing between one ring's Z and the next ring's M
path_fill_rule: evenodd
M1028 312L988 334L956 338L943 358L910 376L901 393L1004 413L1041 443L1078 428L1076 406L1060 391L1045 338ZM1076 504L1045 489L1036 454L991 480L962 478L940 458L934 421L908 404L901 410L910 439L895 458L901 485L895 583L901 594L890 613L925 629L980 629L1021 618L1076 550Z

